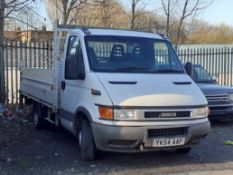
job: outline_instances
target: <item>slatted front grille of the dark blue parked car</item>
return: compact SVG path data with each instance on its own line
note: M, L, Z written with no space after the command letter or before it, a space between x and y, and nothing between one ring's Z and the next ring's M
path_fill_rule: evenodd
M209 105L228 104L229 99L227 94L223 95L206 95Z

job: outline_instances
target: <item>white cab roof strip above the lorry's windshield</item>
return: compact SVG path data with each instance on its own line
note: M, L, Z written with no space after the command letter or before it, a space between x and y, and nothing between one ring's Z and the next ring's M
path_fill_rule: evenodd
M164 39L159 34L137 32L131 30L117 30L117 29L81 29L84 35L104 35L104 36L128 36L128 37L142 37L142 38L153 38L153 39ZM72 33L80 32L80 29L73 29ZM87 34L85 34L87 33Z

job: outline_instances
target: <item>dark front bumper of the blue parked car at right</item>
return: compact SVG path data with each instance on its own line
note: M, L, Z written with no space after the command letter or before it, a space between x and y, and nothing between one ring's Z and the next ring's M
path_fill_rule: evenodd
M210 120L233 120L233 106L210 106Z

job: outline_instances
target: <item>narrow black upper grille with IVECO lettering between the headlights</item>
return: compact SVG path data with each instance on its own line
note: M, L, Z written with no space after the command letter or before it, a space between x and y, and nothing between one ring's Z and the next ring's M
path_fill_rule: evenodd
M145 118L181 118L190 117L190 111L145 112Z

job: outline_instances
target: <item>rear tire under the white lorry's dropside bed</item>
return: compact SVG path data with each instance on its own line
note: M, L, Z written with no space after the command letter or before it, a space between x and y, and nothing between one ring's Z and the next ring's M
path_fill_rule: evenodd
M42 108L41 105L37 102L33 103L33 109L32 109L32 117L33 117L33 123L36 129L43 129L45 125L45 120L42 116Z

